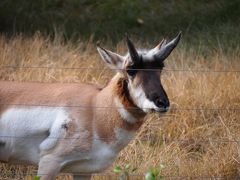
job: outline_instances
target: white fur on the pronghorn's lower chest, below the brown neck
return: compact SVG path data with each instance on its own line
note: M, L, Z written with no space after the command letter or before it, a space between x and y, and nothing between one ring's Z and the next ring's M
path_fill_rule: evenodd
M93 132L92 149L87 152L74 152L63 160L65 166L63 172L101 172L111 166L121 151L133 139L135 133L122 128L115 128L115 137L111 143L106 143L101 139L96 130ZM108 137L113 138L113 137Z

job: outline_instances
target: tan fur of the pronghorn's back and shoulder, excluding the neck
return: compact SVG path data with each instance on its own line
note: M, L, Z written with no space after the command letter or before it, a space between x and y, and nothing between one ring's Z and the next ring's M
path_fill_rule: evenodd
M98 92L98 88L86 84L0 82L0 109L2 114L15 105L23 108L35 108L37 105L66 107L71 114L66 124L66 139L60 139L57 148L50 150L64 155L74 149L90 149L93 119L91 102ZM46 153L49 151L42 152L42 155Z

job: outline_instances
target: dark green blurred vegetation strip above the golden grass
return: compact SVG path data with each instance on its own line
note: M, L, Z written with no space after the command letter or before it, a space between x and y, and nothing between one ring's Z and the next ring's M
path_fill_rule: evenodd
M0 32L40 32L70 40L110 40L128 32L159 41L183 31L185 41L234 48L240 41L239 0L1 0Z

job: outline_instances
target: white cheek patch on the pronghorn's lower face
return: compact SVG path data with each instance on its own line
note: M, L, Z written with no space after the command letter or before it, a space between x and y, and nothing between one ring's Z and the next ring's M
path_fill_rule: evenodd
M159 108L154 104L154 102L150 101L147 97L145 92L143 91L143 88L141 86L134 87L131 82L129 87L129 93L133 99L133 101L136 103L136 105L141 108L144 112L148 113L152 109L158 110Z

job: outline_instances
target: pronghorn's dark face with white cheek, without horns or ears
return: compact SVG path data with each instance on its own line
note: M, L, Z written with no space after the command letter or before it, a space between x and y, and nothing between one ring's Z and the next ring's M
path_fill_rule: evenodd
M167 112L169 109L169 99L160 80L163 66L157 61L141 60L126 68L131 96L145 112Z

